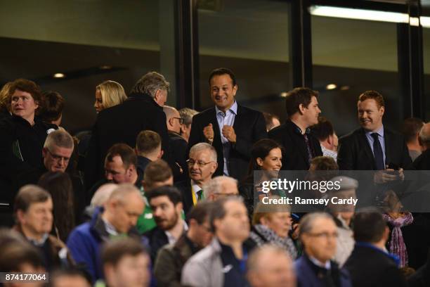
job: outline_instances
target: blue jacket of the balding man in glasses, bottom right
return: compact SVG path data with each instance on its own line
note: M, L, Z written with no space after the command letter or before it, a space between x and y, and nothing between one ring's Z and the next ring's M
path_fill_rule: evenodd
M339 269L336 263L331 262L332 268L332 279L334 281L339 280L339 285L335 283L335 286L340 287L352 287L351 279L349 277L348 271L346 269ZM323 280L322 269L311 260L306 255L302 255L294 262L294 269L297 275L297 286L298 287L325 287L326 283Z

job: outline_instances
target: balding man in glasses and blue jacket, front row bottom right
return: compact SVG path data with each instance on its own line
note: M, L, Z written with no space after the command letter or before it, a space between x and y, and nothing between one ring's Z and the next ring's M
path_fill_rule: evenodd
M336 224L327 213L308 213L301 219L299 237L304 254L294 262L297 286L352 286L348 272L331 260L337 236Z

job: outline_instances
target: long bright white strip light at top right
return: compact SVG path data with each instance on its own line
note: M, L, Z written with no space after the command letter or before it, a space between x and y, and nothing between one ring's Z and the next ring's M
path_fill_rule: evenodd
M373 20L392 23L409 23L409 15L405 13L374 11L333 6L311 6L309 13L315 16L347 18L357 20Z

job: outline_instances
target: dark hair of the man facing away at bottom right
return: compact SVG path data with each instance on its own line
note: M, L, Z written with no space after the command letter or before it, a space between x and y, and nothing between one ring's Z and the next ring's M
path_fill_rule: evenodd
M368 243L381 240L386 229L382 213L374 208L359 210L354 216L354 239Z

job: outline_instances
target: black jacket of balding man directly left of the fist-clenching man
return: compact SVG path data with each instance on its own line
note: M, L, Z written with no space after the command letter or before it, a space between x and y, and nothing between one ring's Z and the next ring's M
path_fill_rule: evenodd
M169 131L170 167L174 174L174 182L188 179L188 143L176 132Z

